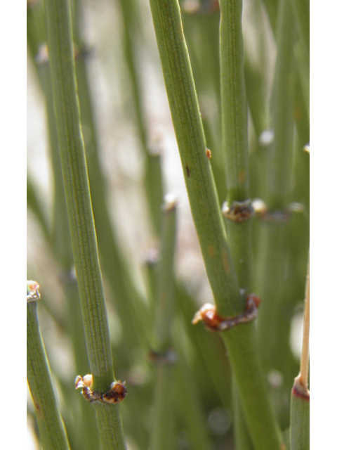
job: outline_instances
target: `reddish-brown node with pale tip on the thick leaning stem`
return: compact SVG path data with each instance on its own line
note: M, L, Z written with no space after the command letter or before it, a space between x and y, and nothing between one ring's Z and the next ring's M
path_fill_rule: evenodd
M194 315L192 323L203 321L206 328L211 331L225 331L239 323L247 323L256 319L258 315L258 306L261 300L254 294L249 294L246 297L246 309L243 313L233 317L221 317L216 312L214 304L206 303Z

